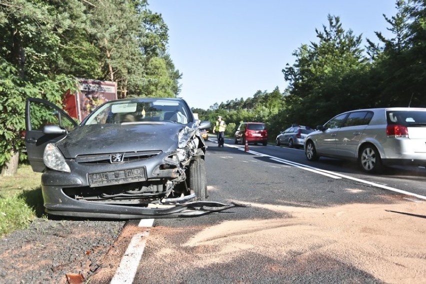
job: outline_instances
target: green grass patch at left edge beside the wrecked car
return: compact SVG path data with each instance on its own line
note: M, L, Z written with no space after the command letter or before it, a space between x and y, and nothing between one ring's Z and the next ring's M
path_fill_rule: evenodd
M0 237L43 215L40 178L29 165L19 165L14 176L0 176Z

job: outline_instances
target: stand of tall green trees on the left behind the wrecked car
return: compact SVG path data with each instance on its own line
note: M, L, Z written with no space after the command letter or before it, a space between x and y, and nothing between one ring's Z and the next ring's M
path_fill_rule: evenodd
M25 99L61 104L75 77L115 81L120 97L177 96L167 32L146 0L0 0L0 167L24 147Z

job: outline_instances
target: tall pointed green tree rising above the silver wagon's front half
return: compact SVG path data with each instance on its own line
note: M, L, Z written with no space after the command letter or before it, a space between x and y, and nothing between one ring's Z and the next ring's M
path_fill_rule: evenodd
M295 63L282 70L290 89L288 123L316 125L330 117L330 109L337 114L364 104L365 92L354 92L351 81L368 70L361 36L346 32L339 17L327 20L327 27L315 30L318 42L302 45L293 53Z

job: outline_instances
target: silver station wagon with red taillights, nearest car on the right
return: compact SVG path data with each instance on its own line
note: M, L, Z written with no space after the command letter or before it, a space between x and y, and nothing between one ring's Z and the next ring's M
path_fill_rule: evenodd
M309 161L350 159L371 173L382 172L383 165L426 165L426 108L348 111L317 129L304 143Z

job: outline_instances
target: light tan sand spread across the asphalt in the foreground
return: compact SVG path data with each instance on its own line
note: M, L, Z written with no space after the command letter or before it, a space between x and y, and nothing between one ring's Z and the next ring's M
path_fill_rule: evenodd
M300 262L320 255L388 283L426 282L424 202L326 208L251 205L291 217L224 221L201 230L183 244L200 253L208 251L197 265L227 263L247 251L277 260L296 257Z

